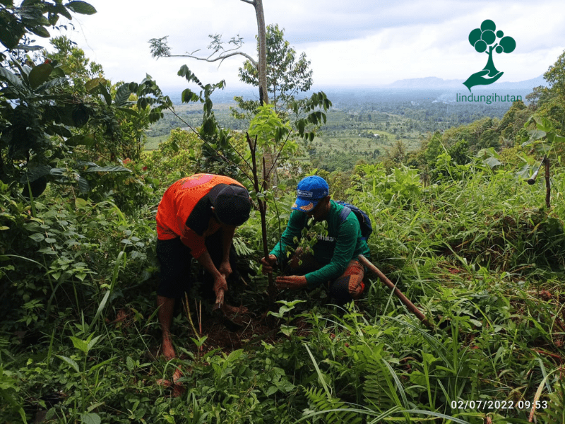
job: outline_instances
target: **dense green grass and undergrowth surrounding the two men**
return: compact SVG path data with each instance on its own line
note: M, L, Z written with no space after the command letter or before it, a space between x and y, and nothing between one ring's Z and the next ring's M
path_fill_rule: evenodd
M3 187L3 422L44 413L61 423L562 423L560 168L549 209L541 185L506 170L470 165L427 186L408 168L357 170L340 200L369 213L371 261L434 329L372 276L346 310L320 290L269 305L254 272L254 212L236 235L248 272L239 300L261 326L229 348L194 333L194 310L194 326L179 314L182 355L169 362L157 354L153 219L178 175L161 171L145 179L146 206L127 214L112 196L53 192L31 207ZM271 201L271 243L292 191ZM177 367L184 392L174 397L157 380Z

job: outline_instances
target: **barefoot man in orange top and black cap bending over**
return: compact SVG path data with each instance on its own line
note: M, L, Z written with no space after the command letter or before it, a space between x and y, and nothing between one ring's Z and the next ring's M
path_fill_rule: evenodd
M175 357L170 326L175 299L191 287L190 257L213 279L213 290L227 290L235 271L232 239L249 219L251 202L245 187L230 177L196 174L179 179L163 195L157 209L157 259L161 266L157 314L165 358ZM224 312L234 308L224 304Z

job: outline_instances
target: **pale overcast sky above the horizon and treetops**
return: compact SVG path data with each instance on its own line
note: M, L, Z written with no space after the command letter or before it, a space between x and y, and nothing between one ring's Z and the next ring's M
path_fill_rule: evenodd
M139 82L149 73L162 88L184 88L182 64L203 83L222 79L242 85L243 57L206 64L189 58L155 60L148 40L168 35L173 54L202 49L209 34L244 38L242 51L256 57L253 6L239 0L88 0L93 16L76 15L69 33L106 76ZM267 24L278 23L314 70L314 88L379 86L405 78L436 76L465 80L480 71L486 54L468 42L485 19L516 40L510 54L494 54L504 76L523 81L547 71L565 49L563 0L263 0Z

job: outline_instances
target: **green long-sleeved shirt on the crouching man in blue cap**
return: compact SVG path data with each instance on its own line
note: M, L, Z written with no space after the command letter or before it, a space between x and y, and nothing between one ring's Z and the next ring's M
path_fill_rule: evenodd
M323 282L338 278L347 268L352 259L357 259L359 254L369 257L369 246L362 240L359 220L355 213L350 213L343 223L340 223L340 211L343 206L331 201L331 208L326 216L328 222L328 235L317 235L318 241L314 245L314 259L323 264L321 269L307 273L308 288L315 288ZM301 211L292 211L287 228L283 232L280 242L270 254L277 257L279 264L283 263L286 247L296 247L293 239L301 237L302 228L307 225L308 216Z

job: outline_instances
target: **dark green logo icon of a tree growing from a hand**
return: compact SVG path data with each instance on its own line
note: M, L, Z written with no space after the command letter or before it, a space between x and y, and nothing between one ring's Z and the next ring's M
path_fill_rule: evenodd
M496 42L499 39L499 42ZM473 73L467 81L463 83L465 87L471 90L474 86L488 86L498 81L504 72L499 71L492 61L492 53L511 53L516 49L516 40L512 37L505 36L501 30L496 31L496 24L490 20L483 20L481 28L475 28L469 34L469 42L472 47L479 53L489 55L487 65L482 71Z

